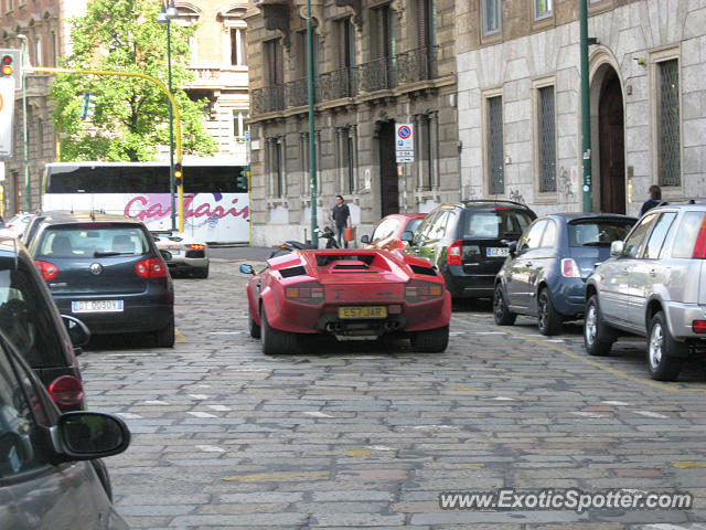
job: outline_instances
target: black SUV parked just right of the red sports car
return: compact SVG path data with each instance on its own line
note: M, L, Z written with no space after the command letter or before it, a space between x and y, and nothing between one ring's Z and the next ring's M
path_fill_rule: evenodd
M492 298L495 275L536 214L524 204L473 200L441 204L424 219L403 252L430 259L452 298Z

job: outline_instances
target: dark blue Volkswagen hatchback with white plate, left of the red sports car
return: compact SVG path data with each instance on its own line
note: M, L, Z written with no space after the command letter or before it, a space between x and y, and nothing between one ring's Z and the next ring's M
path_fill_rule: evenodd
M95 212L46 214L29 241L54 301L92 335L151 336L174 344L174 289L145 224Z

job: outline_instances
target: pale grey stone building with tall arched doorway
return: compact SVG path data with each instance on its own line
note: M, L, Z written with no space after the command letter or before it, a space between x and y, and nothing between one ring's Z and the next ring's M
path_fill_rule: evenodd
M706 3L586 0L592 210L706 197ZM579 2L457 2L461 197L581 211Z

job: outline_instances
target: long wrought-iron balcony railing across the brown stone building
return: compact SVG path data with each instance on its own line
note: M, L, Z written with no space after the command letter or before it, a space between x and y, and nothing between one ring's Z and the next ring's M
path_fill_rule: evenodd
M438 75L437 50L438 46L410 50L359 66L319 74L314 80L314 103L352 98L434 80ZM307 81L307 77L302 77L284 85L252 91L253 115L308 105Z

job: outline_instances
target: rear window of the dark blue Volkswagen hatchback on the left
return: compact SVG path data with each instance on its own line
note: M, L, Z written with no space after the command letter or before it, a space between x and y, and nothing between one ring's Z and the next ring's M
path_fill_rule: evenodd
M47 229L34 257L125 256L148 251L145 232L135 225L77 224Z

